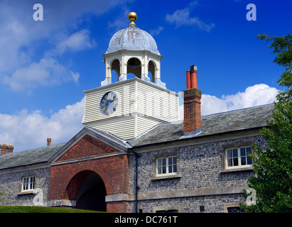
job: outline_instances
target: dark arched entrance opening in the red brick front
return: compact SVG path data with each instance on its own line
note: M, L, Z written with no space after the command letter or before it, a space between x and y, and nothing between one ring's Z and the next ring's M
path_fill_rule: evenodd
M84 170L77 173L70 180L66 192L69 199L76 201L76 209L107 211L106 188L96 172Z

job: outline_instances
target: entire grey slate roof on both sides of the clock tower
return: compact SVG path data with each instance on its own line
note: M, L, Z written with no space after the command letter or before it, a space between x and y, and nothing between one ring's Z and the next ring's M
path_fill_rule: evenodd
M269 104L202 116L202 132L198 135L194 135L193 137L200 138L202 136L215 135L217 133L227 133L230 131L242 131L246 129L264 127L266 126L266 121L271 120L273 110L274 104ZM93 128L90 129L106 138L109 138L110 140L114 140L115 143L126 146L127 148L131 148L131 146L139 147L142 145L151 145L184 139L182 137L183 121L158 124L132 140L122 140L121 138L118 138L110 133L105 133ZM50 157L63 148L65 144L66 143L50 145L43 148L36 148L33 150L4 155L0 157L0 170L48 162Z

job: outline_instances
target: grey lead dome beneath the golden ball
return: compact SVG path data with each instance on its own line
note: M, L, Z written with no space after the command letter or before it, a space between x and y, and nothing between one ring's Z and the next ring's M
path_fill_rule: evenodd
M161 55L153 37L134 24L114 34L109 41L106 54L118 50L147 50L153 54Z

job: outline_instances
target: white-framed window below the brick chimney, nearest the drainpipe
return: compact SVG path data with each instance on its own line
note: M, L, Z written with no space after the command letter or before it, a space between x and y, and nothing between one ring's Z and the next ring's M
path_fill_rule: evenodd
M178 172L176 160L177 160L176 156L157 158L156 160L157 175L176 174Z

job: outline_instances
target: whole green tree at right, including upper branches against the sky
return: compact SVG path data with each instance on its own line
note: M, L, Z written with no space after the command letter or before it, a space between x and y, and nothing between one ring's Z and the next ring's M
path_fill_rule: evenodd
M249 178L249 188L255 189L256 202L240 206L249 212L292 212L292 36L257 38L272 41L268 47L277 54L274 62L286 69L277 82L286 90L276 96L274 119L260 130L269 148L254 146L255 155L251 155L256 175ZM244 190L244 197L249 196Z

